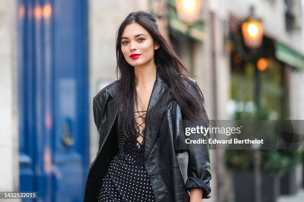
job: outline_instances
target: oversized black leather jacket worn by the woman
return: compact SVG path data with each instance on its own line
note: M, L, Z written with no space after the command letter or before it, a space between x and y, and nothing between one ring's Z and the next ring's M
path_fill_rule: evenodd
M181 79L198 99L208 119L204 98L196 87L196 81L182 77ZM113 135L115 130L112 130L118 112L117 93L118 83L114 82L102 89L93 99L94 121L100 135L99 150L89 167L84 202L97 202L101 179L109 160L118 148L115 138L117 136ZM146 116L144 158L156 202L189 202L188 191L191 188L202 189L203 198L210 198L211 173L208 146L189 147L186 151L189 156L188 179L184 183L176 157L182 152L179 150L179 141L183 136L181 120L179 105L157 74Z

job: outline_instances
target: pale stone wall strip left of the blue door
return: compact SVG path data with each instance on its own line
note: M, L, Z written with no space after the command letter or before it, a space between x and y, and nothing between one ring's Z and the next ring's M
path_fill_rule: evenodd
M1 0L0 191L17 191L19 189L17 12L17 0Z

